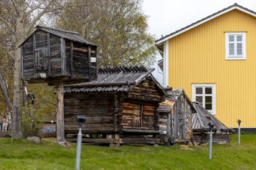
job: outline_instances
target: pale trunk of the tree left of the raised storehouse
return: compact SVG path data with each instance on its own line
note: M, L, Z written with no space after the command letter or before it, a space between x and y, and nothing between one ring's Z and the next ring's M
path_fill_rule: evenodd
M24 1L17 5L17 18L15 28L15 59L14 59L14 90L11 139L22 138L22 77L20 68L19 45L24 39Z

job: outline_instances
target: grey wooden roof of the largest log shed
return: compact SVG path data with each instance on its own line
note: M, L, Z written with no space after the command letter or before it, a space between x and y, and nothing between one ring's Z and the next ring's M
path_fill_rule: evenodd
M165 95L162 86L151 75L154 68L146 67L100 67L98 69L98 78L91 82L65 85L64 93L79 92L128 92L135 85L150 77L156 83L156 87Z

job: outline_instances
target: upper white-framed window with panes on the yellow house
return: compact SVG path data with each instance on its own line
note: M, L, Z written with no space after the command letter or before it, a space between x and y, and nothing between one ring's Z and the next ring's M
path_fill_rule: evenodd
M226 32L226 59L245 58L245 32Z

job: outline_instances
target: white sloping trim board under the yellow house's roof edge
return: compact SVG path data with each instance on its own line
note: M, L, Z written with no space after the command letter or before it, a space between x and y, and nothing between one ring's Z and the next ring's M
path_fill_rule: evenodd
M232 11L233 9L238 9L238 10L240 10L240 11L243 11L243 12L245 12L245 13L248 13L249 15L253 15L254 17L256 17L255 13L252 13L252 12L250 12L250 11L247 11L247 10L241 8L241 7L234 6L234 7L231 7L230 9L226 9L225 11L222 11L222 12L216 14L216 15L213 15L212 17L209 17L209 18L207 18L207 19L205 19L205 20L203 20L203 21L201 21L201 22L199 22L199 23L197 23L197 24L195 24L195 25L193 25L193 26L190 26L189 28L186 28L186 29L184 29L184 30L181 30L180 32L177 32L176 34L172 34L171 36L168 36L168 37L166 37L166 38L160 40L159 42L156 42L156 44L157 44L157 45L158 45L158 44L161 44L162 42L165 42L166 40L169 40L170 38L172 38L172 37L174 37L174 36L178 36L179 34L181 34L181 33L183 33L183 32L187 32L188 30L191 30L192 28L195 28L195 27L197 27L197 26L199 26L199 25L201 25L201 24L203 24L203 23L205 23L205 22L208 22L208 21L210 21L211 19L214 19L215 17L218 17L218 16L220 16L220 15L222 15L222 14L224 14L224 13L227 13L227 12L229 12L229 11Z

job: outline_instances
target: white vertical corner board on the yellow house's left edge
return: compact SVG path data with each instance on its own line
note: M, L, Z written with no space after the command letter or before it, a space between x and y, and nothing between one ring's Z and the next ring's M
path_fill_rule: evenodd
M163 86L168 86L168 76L169 76L169 43L168 40L164 42L164 64L163 64Z

